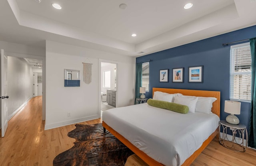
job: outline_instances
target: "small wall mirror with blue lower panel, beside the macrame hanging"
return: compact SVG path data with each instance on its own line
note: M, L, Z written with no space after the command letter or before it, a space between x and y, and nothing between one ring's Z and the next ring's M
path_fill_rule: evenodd
M64 71L64 86L80 86L80 71L79 70L69 70Z

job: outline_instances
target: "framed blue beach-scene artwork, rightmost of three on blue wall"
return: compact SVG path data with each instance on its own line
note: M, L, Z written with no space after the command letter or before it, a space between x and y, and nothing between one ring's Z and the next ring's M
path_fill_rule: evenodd
M188 68L188 82L203 82L203 66Z

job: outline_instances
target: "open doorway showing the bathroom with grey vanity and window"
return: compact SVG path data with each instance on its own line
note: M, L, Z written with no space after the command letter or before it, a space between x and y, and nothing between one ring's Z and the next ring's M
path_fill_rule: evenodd
M106 111L116 107L117 82L116 64L101 62L100 110Z

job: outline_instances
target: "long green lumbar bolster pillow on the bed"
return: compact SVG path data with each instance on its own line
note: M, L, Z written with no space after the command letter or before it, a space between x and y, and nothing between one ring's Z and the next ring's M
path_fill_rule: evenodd
M161 100L153 100L153 99L148 99L148 105L158 107L158 108L163 108L166 110L171 110L175 112L179 112L182 114L187 114L188 113L188 106L184 106L182 104L177 104L173 102L166 102L166 101L161 101Z

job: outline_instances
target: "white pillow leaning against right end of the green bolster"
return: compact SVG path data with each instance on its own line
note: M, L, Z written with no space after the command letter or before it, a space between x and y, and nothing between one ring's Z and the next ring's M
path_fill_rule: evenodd
M197 100L198 100L198 97L195 97L195 96L177 95L174 97L174 103L188 106L188 109L189 109L188 112L192 112L192 113L195 113Z

